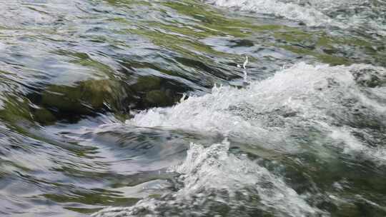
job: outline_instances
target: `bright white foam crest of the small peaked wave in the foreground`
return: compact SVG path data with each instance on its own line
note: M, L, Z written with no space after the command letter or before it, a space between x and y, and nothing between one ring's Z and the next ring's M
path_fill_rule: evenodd
M213 144L208 148L191 143L187 159L172 171L184 174L184 190L181 196L193 196L200 188L226 188L233 193L239 188L254 186L262 203L279 209L289 216L316 213L303 198L266 168L245 158L229 154L229 142ZM262 183L272 183L269 188Z

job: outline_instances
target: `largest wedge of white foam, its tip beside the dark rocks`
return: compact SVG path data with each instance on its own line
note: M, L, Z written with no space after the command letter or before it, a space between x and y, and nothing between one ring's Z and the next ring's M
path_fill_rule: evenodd
M374 93L382 93L385 87L371 89L359 84L353 74L363 70L375 71L380 78L386 76L385 69L369 65L301 63L277 72L271 79L254 82L247 89L214 87L212 94L191 96L171 108L142 111L127 124L217 132L243 140L254 138L271 148L293 151L296 143L286 143L291 135L297 136L295 130L299 126L305 131L308 126L315 126L329 134L329 126L355 121L350 120L355 118L355 112L362 113L365 119L385 120L385 96L382 100L374 98L382 97ZM355 142L347 143L347 148L356 149Z

